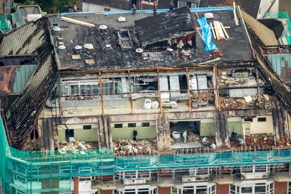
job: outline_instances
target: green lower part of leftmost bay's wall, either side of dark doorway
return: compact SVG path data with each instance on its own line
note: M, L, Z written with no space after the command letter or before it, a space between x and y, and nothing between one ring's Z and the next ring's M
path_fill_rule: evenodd
M84 142L97 142L98 141L97 128L91 128L91 130L83 130L83 128L74 129L74 139L75 140L79 139ZM65 141L65 129L58 128L58 140L59 142Z

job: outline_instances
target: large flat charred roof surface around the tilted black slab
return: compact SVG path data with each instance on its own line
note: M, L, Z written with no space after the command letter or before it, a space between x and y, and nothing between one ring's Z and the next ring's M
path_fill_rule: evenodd
M196 21L196 13L189 13L189 8L177 9L178 11L158 13L155 17L158 22L162 21L166 15L178 15L182 14L180 19L175 20L173 24L165 24L165 26L177 25L178 21L184 19L189 20L187 27L184 29L191 30L193 24L199 26ZM182 12L182 13L181 13ZM213 20L218 20L223 22L223 25L229 27L226 29L229 39L228 40L214 40L212 37L212 42L218 47L223 49L223 57L220 61L216 61L215 65L233 65L233 64L250 64L250 61L254 61L252 49L250 46L249 38L244 25L240 22L238 26L235 25L233 20L233 12L229 10L213 11L205 9L205 12L198 12L199 18L203 17L204 13L211 12L214 18L207 19L207 23L213 22ZM125 22L118 22L118 17L125 17ZM74 23L70 23L68 27L62 27L61 21L58 22L58 26L61 31L53 31L54 26L51 27L52 31L52 41L55 46L56 57L59 69L70 69L71 71L103 71L103 70L116 70L116 69L143 69L143 68L158 68L158 67L191 67L198 66L199 63L209 61L214 59L212 52L205 51L205 43L197 34L196 36L196 47L189 49L189 53L182 58L182 50L175 49L173 52L169 53L167 50L160 49L156 51L148 51L143 53L136 53L136 49L141 47L141 25L139 21L143 18L146 20L152 20L152 12L136 12L132 13L98 13L98 14L84 14L84 13L74 13L66 14L65 17L79 20L82 22L87 22L94 24L95 27L87 27ZM161 19L158 19L161 17ZM148 19L149 18L149 19ZM183 19L182 19L183 18ZM192 20L195 18L195 20ZM239 15L238 15L239 18ZM174 19L173 19L174 20ZM159 25L157 24L155 25ZM135 27L135 23L138 24L138 29ZM186 25L187 22L184 22ZM100 25L106 25L107 29L100 29ZM165 27L164 26L164 27ZM148 37L146 40L155 38L159 40L161 38L160 34L155 35L152 33L151 26L143 25L143 32L147 31ZM181 26L179 27L179 29ZM128 29L130 40L132 42L132 48L122 48L118 43L118 30ZM173 29L177 30L176 27ZM175 30L171 30L174 33ZM142 34L145 38L146 33ZM165 37L171 35L167 34ZM57 40L60 37L61 40ZM57 43L56 43L57 41ZM62 42L66 47L66 52L58 52L59 42ZM85 44L92 44L93 49L84 49ZM75 52L74 48L76 46L81 46L81 53ZM178 51L178 52L176 52ZM78 55L78 59L71 60L71 55ZM65 58L66 57L66 58ZM186 59L185 59L186 57ZM85 59L88 63L85 62Z

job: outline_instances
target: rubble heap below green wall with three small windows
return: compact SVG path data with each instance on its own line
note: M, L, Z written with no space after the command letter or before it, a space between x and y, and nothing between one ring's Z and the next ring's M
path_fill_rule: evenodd
M113 140L115 153L149 153L150 151L157 151L157 140L126 140L117 138Z

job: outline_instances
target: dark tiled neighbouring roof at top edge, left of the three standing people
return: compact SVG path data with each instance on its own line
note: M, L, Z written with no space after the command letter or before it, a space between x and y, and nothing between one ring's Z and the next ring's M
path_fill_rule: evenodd
M114 7L119 9L131 9L131 1L127 0L82 0L86 3L93 3L102 6Z

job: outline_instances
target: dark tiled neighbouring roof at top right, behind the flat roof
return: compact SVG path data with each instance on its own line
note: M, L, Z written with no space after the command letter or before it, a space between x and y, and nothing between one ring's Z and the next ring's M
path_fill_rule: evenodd
M200 0L199 7L216 7L218 3L224 3L225 0ZM247 14L257 18L261 0L236 0L236 5L241 5L241 9ZM233 5L229 5L233 6Z

